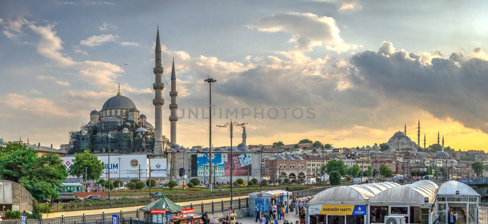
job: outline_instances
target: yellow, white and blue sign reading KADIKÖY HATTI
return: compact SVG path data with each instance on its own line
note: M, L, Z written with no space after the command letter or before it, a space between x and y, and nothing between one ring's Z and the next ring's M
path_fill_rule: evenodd
M366 204L309 205L310 215L366 215Z

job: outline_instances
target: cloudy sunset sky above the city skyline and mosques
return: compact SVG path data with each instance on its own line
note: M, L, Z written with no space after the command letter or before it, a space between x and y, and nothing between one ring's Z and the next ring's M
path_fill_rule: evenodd
M0 137L59 148L117 94L154 124L153 67L163 49L163 135L176 66L177 141L230 145L310 139L385 143L407 126L421 146L444 136L487 150L486 1L0 2ZM222 112L220 112L222 110ZM232 113L236 110L236 113ZM234 128L233 144L242 128Z

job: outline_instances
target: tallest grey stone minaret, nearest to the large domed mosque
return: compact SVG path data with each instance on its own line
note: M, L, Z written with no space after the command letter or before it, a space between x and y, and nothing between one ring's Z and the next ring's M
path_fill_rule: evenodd
M159 25L158 34L156 36L156 50L154 51L156 55L156 66L154 67L154 75L156 76L156 82L153 84L154 88L154 155L163 155L163 88L164 84L162 82L163 66L161 66L161 41L159 40Z

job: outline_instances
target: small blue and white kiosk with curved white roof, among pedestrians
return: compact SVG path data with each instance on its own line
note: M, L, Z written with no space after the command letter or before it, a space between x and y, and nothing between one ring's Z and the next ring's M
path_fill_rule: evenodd
M285 206L285 213L288 213L289 197L291 192L285 190L265 190L249 194L249 216L256 216L257 208L262 213L269 211L269 204L276 203Z

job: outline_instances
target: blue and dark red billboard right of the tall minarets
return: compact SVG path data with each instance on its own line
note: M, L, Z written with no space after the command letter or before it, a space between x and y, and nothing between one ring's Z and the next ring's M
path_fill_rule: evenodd
M228 176L230 175L230 165L231 161L234 161L234 173L232 175L236 176L247 176L252 175L252 155L246 153L232 153L232 158L230 153L215 153L212 154L212 164L213 172L215 176ZM197 155L197 173L198 176L208 175L208 154L202 153Z

